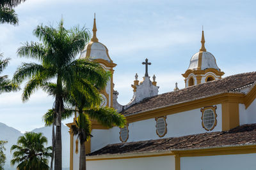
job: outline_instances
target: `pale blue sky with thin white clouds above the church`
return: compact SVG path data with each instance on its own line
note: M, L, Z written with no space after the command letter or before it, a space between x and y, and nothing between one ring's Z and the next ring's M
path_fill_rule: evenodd
M156 74L159 94L172 91L175 82L184 88L181 74L200 49L202 25L205 48L215 56L224 76L256 71L255 6L253 0L27 0L15 8L19 25L0 24L0 52L12 59L2 75L12 78L22 62L36 62L16 54L22 43L38 41L33 35L36 25L56 26L62 16L67 29L79 25L91 31L93 13L97 38L117 64L113 78L120 104L132 99L134 75L138 73L142 80L145 66L141 62L146 58L152 62L148 74ZM0 122L21 132L44 126L42 115L52 108L52 97L37 90L22 103L21 94L22 90L0 95Z

